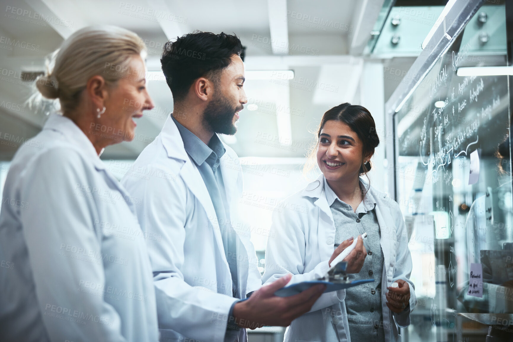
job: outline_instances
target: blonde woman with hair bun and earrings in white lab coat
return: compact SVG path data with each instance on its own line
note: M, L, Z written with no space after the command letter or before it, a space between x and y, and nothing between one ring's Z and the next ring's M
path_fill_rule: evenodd
M7 175L0 259L13 267L0 270L3 341L158 339L140 202L98 157L132 140L134 118L153 107L144 51L133 32L87 27L36 80L61 113L48 117L38 144L16 152Z

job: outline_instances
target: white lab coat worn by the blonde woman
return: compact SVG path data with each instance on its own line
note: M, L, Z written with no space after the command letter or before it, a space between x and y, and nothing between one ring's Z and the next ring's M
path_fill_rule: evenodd
M51 115L14 155L0 212L2 341L156 341L155 292L130 197L87 136Z

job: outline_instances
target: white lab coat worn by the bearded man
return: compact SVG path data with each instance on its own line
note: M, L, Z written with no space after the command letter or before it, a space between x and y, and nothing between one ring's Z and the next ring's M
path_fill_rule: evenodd
M249 231L238 219L242 169L235 152L225 146L220 170L232 226L238 233L238 285L241 298L262 286ZM219 172L219 171L218 171ZM225 340L232 297L230 269L214 206L171 116L162 132L135 160L122 179L142 198L137 215L147 240L156 291L161 339ZM226 340L246 340L246 331L228 331Z

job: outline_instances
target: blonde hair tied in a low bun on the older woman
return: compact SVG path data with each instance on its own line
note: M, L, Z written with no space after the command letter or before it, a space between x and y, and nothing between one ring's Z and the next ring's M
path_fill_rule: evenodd
M46 108L41 99L58 98L47 103L58 105L63 114L72 113L88 79L100 75L106 84L114 84L130 75L131 58L143 58L145 51L143 39L127 29L109 25L84 27L48 56L45 74L36 79L28 105L38 111Z

